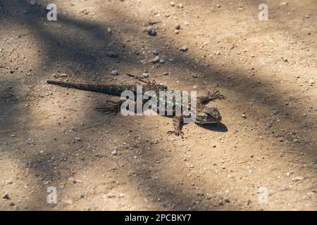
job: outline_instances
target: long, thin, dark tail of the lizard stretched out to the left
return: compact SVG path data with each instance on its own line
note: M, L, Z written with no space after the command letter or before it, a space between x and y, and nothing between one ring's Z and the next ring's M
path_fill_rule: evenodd
M80 89L85 91L94 91L99 93L106 93L106 94L118 94L120 96L120 91L116 91L116 89L111 85L98 85L98 84L74 84L68 82L58 82L55 80L48 80L46 81L47 84L54 84L58 86L73 88L73 89ZM118 93L116 93L118 92Z

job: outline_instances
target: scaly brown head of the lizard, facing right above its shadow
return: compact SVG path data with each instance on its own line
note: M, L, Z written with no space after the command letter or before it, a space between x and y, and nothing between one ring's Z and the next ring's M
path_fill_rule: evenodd
M218 108L205 107L200 113L197 113L197 124L216 124L221 121L221 115Z

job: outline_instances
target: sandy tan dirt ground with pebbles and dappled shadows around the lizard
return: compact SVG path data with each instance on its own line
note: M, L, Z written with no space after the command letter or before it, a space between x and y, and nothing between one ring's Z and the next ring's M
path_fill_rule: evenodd
M316 12L316 0L1 0L0 210L317 210ZM187 124L181 139L170 118L102 115L118 98L46 84L133 84L126 72L218 89L223 124Z

